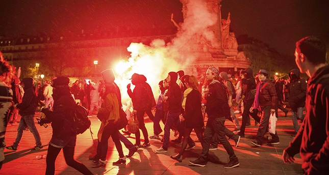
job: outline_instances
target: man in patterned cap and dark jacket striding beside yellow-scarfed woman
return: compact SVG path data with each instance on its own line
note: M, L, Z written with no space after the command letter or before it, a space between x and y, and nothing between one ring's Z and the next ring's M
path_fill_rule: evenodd
M208 114L208 122L204 132L204 140L202 152L198 159L189 161L196 166L206 166L209 159L209 148L213 137L216 135L219 142L223 145L227 154L230 156L229 163L225 164L223 168L234 168L240 165L237 156L234 153L232 145L227 140L226 135L230 138L235 138L236 146L239 144L240 136L235 135L232 131L227 129L224 125L226 117L231 116L229 100L227 99L227 90L223 82L219 80L219 71L215 67L210 67L206 74L207 80L210 82L206 112Z

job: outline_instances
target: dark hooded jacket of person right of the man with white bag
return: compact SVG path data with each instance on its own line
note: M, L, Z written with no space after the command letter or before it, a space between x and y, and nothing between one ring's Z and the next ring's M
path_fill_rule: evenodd
M289 73L290 83L288 85L288 102L292 109L305 106L307 84L305 79L299 77L299 70L293 69Z

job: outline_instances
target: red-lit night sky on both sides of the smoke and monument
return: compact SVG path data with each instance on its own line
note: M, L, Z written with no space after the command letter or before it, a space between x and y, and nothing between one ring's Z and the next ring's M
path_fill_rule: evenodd
M0 6L0 36L60 35L115 26L172 28L181 22L179 0L8 0ZM284 54L309 35L329 39L328 1L223 0L222 17L231 12L236 36L247 34Z

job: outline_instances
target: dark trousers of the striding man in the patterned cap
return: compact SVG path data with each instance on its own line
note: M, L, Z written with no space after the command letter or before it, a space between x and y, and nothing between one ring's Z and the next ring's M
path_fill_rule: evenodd
M223 145L227 154L229 154L230 160L238 160L237 156L234 153L232 145L230 144L229 140L227 140L227 138L225 137L225 133L229 132L230 130L225 127L224 123L225 123L224 117L208 119L204 133L205 144L203 145L202 153L200 154L201 161L208 161L208 152L209 152L210 143L212 142L212 139L215 134L217 135L219 142Z

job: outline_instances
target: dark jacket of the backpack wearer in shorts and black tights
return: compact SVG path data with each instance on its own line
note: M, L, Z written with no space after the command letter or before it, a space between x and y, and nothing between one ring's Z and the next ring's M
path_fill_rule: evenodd
M75 101L68 88L61 88L58 94L59 96L53 94L53 96L56 96L53 111L42 110L42 112L45 113L48 122L52 122L53 137L66 138L74 136L72 126Z

